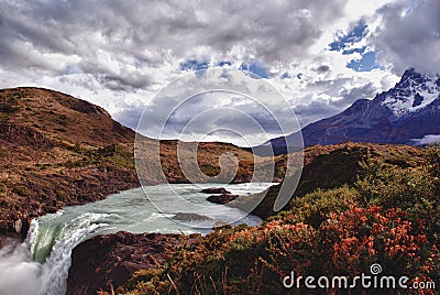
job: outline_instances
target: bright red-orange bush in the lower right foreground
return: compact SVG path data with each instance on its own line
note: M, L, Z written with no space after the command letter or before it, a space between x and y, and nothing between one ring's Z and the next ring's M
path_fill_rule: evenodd
M429 243L424 222L410 221L400 209L352 207L333 214L319 239L324 258L320 263L328 274L353 276L380 263L392 275L439 275L432 260L438 249Z

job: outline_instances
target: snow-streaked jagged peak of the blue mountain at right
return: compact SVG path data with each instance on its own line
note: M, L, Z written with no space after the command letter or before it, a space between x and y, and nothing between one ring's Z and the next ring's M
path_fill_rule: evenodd
M381 94L382 106L388 107L397 117L416 112L440 97L440 76L422 75L407 69L396 86Z

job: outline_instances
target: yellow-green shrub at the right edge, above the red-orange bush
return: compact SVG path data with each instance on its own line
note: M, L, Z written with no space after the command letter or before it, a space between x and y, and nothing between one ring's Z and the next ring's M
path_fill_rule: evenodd
M428 238L439 240L440 196L435 166L436 153L429 152L431 163L418 168L399 168L383 162L365 165L364 178L356 182L358 201L362 206L381 206L385 209L400 208L413 221L424 220Z

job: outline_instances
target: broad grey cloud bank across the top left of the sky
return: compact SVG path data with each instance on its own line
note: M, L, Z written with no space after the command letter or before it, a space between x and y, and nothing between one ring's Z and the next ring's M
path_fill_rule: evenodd
M143 88L154 76L145 69L191 56L288 62L307 55L343 2L3 0L3 66Z

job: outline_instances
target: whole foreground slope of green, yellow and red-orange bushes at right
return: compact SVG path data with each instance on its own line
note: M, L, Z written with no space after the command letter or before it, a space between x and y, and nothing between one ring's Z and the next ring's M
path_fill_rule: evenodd
M344 154L338 156L345 161ZM283 294L292 292L282 284L290 271L353 277L370 274L373 263L387 275L438 284L440 148L429 148L420 163L391 159L360 161L353 183L296 196L288 210L260 227L183 236L166 265L136 272L117 293ZM329 157L318 161L327 166ZM429 292L435 291L424 294Z

